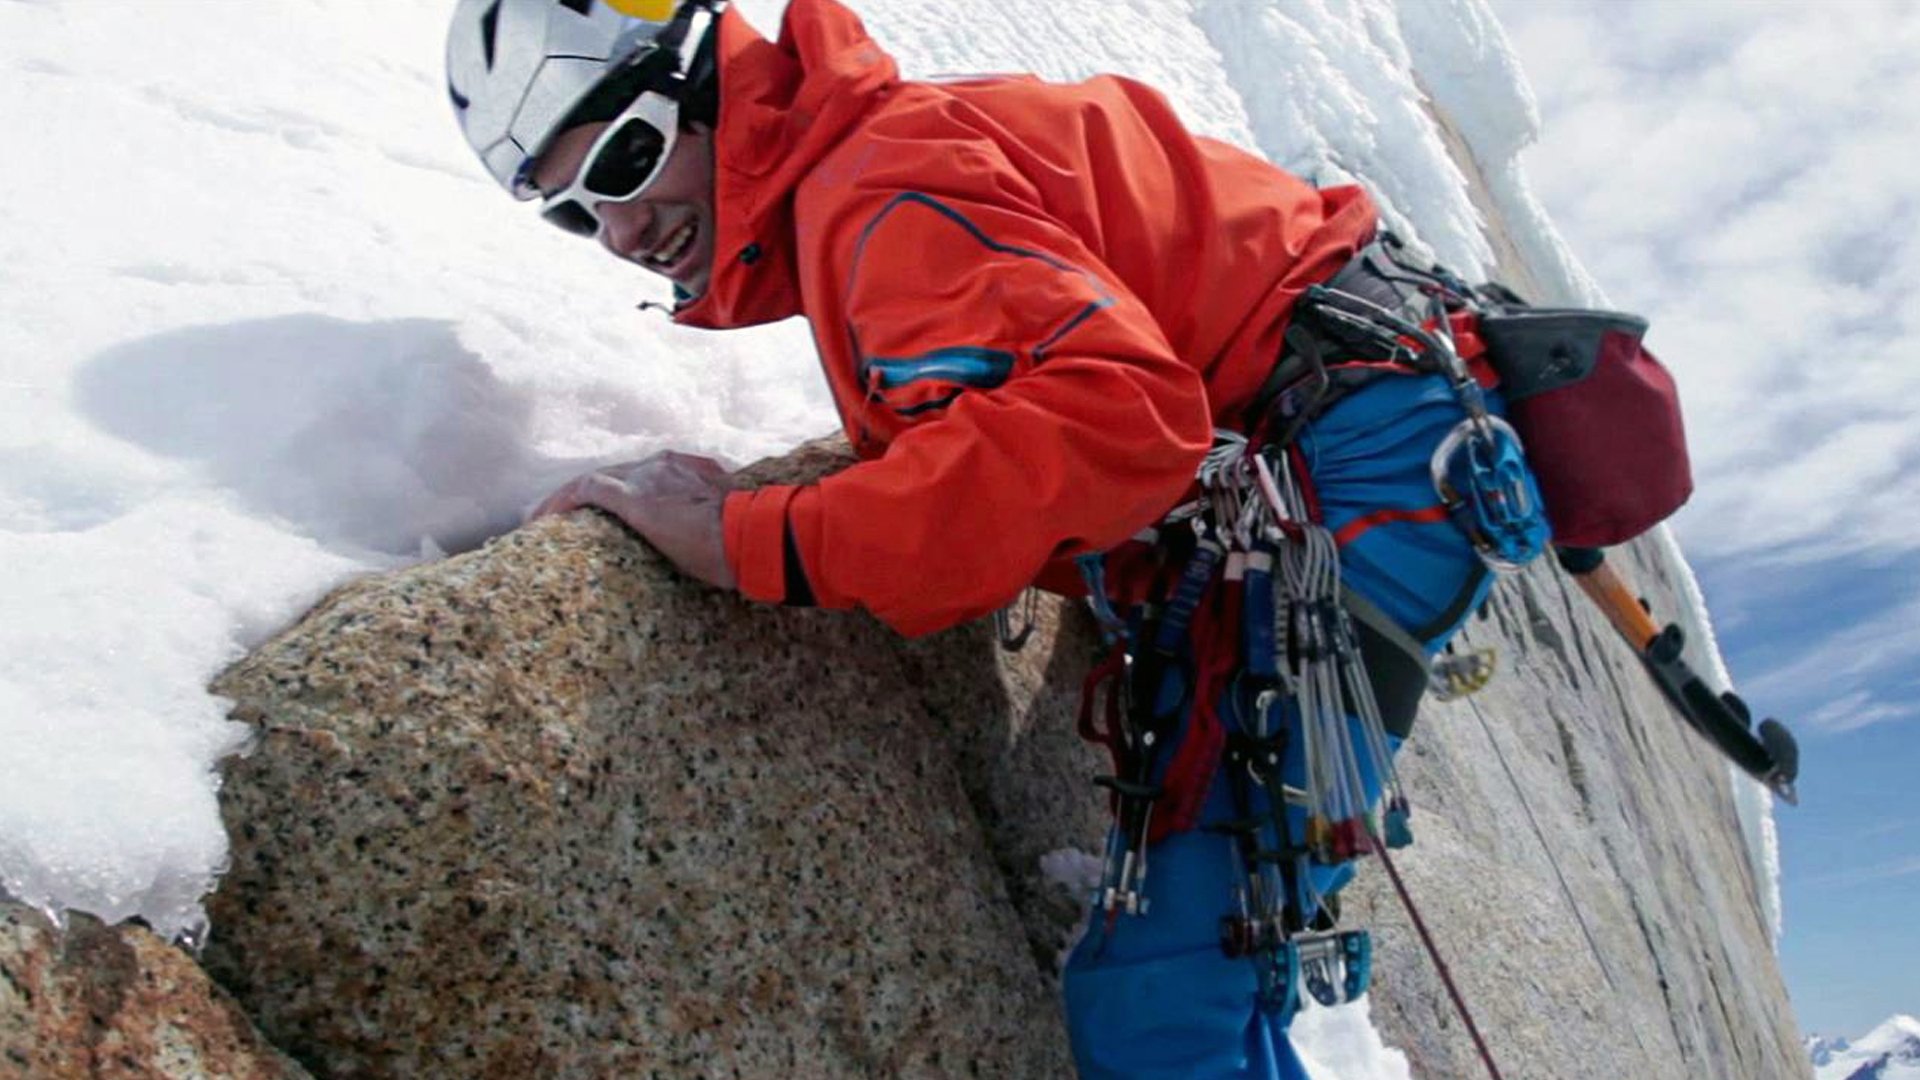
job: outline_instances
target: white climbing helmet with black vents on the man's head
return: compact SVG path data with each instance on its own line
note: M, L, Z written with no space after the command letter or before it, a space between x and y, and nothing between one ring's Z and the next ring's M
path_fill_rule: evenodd
M655 81L685 83L703 40L685 42L691 10L710 0L459 0L447 31L447 94L461 133L499 186L540 192L526 173L547 142L576 123L593 90L616 71L662 65ZM676 12L678 10L678 12ZM707 21L710 25L710 21ZM705 27L703 27L705 29ZM708 35L701 35L703 38ZM662 46L668 46L662 50ZM701 71L710 83L710 60ZM645 86L634 86L634 90ZM684 86L682 86L684 92ZM626 98L632 100L634 92ZM676 94L680 96L680 94ZM611 106L611 113L624 108ZM607 117L599 117L607 119Z

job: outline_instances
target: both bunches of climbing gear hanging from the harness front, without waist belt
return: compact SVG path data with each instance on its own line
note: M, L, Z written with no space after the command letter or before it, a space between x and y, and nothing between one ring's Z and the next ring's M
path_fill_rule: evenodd
M1338 546L1311 519L1292 455L1215 432L1198 484L1200 498L1146 536L1181 538L1185 548L1164 601L1123 619L1106 600L1102 559L1081 559L1096 619L1116 644L1081 701L1081 734L1106 744L1116 761L1114 774L1096 778L1112 794L1116 821L1094 901L1108 930L1121 913L1144 913L1150 821L1164 794L1158 757L1181 713L1212 709L1217 698L1235 817L1210 830L1233 838L1242 867L1221 919L1221 949L1254 959L1261 1005L1290 1017L1302 990L1329 1005L1348 1001L1371 974L1371 938L1331 932L1317 919L1327 897L1311 892L1308 865L1411 842L1409 805L1356 625L1340 603ZM1196 661L1181 648L1210 596L1238 630L1238 650ZM1227 669L1236 671L1219 682ZM1283 780L1288 738L1300 738L1302 788ZM1294 809L1304 828L1290 821Z

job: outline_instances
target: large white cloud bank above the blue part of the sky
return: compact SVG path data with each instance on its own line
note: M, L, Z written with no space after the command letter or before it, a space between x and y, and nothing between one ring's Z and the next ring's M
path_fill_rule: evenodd
M1534 188L1680 379L1690 550L1920 548L1920 6L1498 10Z

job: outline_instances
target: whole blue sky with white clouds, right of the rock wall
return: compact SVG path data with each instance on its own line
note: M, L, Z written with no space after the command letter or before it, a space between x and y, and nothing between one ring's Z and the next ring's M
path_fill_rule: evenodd
M1676 519L1740 690L1801 736L1778 807L1807 1030L1920 1013L1920 4L1496 0L1523 161L1676 371Z

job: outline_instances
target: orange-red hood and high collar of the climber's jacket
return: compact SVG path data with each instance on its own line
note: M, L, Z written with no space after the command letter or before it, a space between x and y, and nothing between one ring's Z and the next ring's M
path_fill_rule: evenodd
M730 6L718 63L714 269L707 292L674 309L707 329L801 313L793 190L900 77L835 0L793 0L778 42Z

